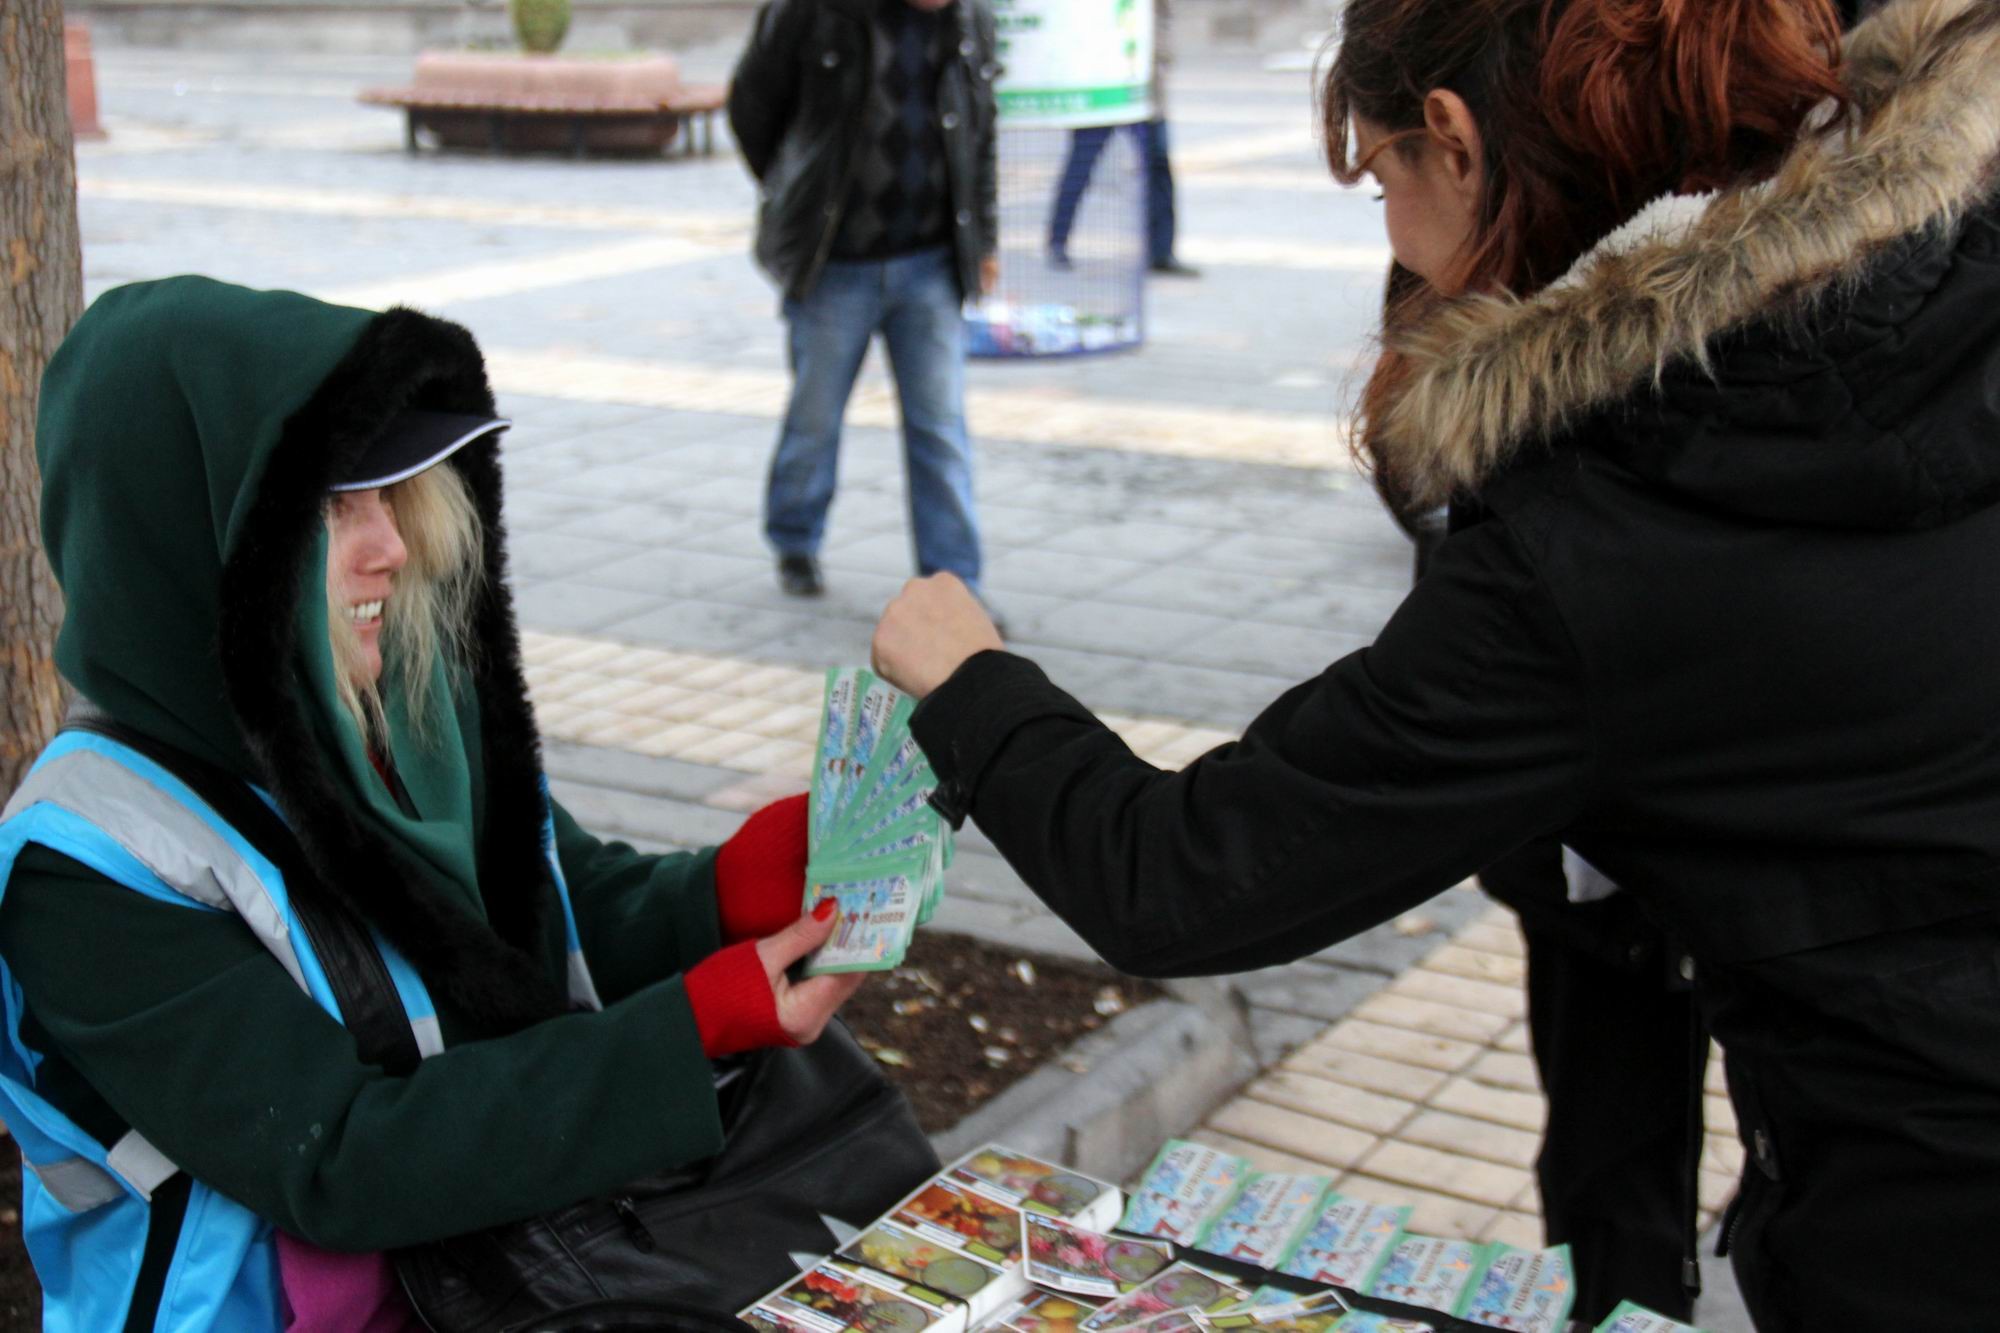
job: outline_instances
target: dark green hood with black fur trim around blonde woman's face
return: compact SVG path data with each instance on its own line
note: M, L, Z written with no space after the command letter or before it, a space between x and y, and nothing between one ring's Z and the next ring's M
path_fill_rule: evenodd
M392 719L420 819L332 699L326 488L406 406L492 410L464 328L208 278L100 296L48 364L36 432L56 664L120 723L266 787L332 897L510 1029L560 1009L562 947L490 438L446 464L488 530L478 656L428 745Z

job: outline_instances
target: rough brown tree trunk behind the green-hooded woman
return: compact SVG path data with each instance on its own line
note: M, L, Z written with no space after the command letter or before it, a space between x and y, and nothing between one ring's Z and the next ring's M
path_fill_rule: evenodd
M34 412L84 308L60 0L0 4L0 799L62 721L62 594L42 558Z

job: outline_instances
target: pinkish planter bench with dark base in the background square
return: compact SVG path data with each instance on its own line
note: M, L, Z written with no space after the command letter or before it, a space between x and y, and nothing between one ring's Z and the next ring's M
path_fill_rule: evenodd
M728 88L682 84L672 56L568 60L484 52L424 52L406 88L368 88L360 100L404 112L404 146L418 130L446 148L520 152L568 148L684 154L716 150L716 112Z

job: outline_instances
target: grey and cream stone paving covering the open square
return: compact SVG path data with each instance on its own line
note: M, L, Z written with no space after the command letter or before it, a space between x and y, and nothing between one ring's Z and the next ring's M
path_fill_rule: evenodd
M732 56L684 52L686 76ZM866 660L910 574L892 384L870 358L828 594L784 598L758 530L782 324L726 142L666 162L410 156L396 116L354 104L406 72L100 44L86 290L210 272L472 328L516 420L510 574L558 795L642 847L720 841L804 787L818 673ZM1182 250L1204 278L1150 284L1136 354L968 376L986 590L1014 646L1160 765L1364 646L1410 580L1344 436L1380 210L1326 178L1306 74L1186 52L1176 80ZM1038 244L1010 234L1004 272ZM938 927L1088 957L974 829ZM1230 1003L1266 1073L1206 1137L1408 1199L1432 1231L1532 1239L1518 943L1476 893L1234 979ZM1730 1167L1720 1139L1710 1161ZM1704 1203L1724 1189L1704 1177Z

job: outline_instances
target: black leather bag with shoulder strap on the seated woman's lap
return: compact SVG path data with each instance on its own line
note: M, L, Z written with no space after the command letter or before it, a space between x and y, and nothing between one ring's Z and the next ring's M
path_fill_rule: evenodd
M286 877L362 1059L418 1065L366 927L318 887L298 841L228 773L100 713L72 713L192 787ZM718 1075L722 1153L616 1195L394 1255L434 1333L740 1329L734 1311L838 1249L938 1169L910 1103L834 1019L820 1041ZM796 1255L796 1259L794 1259Z

